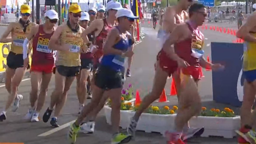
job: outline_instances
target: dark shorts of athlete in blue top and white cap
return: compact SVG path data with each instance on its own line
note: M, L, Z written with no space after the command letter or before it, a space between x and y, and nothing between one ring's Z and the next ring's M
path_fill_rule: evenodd
M122 73L108 66L100 65L95 74L95 85L103 90L122 88Z

